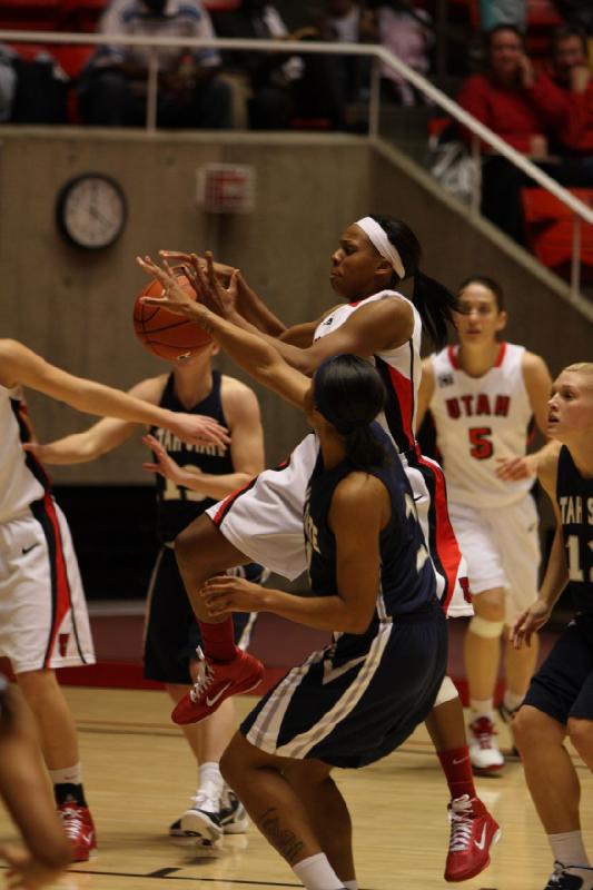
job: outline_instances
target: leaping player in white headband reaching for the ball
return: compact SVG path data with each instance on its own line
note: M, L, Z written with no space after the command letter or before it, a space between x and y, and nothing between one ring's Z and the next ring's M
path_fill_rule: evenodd
M442 471L437 464L419 455L414 439L422 323L438 342L445 337L446 320L456 306L449 291L418 269L419 257L416 237L401 220L365 217L353 224L342 236L332 257L330 283L345 305L326 313L318 323L287 330L281 340L258 332L236 312L238 274L233 274L226 289L214 276L213 268L209 280L206 280L197 258L188 274L200 291L200 299L217 305L218 312L224 312L243 329L277 345L289 364L307 374L335 354L347 352L374 356L388 389L382 419L397 445L411 479L421 524L437 571L443 607L449 615L473 614L463 592L458 596L458 577L464 572L459 572L461 554L448 523ZM211 257L209 263L211 266ZM178 312L199 319L200 307L189 306L190 300L176 288L175 279L167 270L158 269L150 261L144 263L144 267L150 275L160 275L161 283L168 288L171 300L165 299L162 305L171 308L171 303L179 300ZM414 278L413 301L393 289L406 277ZM146 301L158 305L158 299ZM295 346L293 339L300 345ZM227 337L225 348L228 342ZM228 352L236 358L233 344ZM257 370L248 362L245 367L251 374ZM204 517L178 537L178 564L201 622L209 661L202 670L202 679L206 676L208 683L196 684L190 695L177 706L174 720L191 722L201 719L211 710L209 703L216 703L235 691L253 688L261 675L261 668L247 656L237 660L236 650L230 645L228 622L211 622L197 591L206 578L220 571L223 558L243 563L246 554L254 558L254 554L259 553L263 564L286 577L300 574L306 565L300 517L306 481L313 472L316 454L315 437L306 437L286 466L260 474L248 491L214 507L207 514L209 521ZM229 670L233 678L226 675ZM476 795L463 709L448 678L443 683L427 726L452 798L445 879L465 880L487 866L490 844L498 835L491 830L494 820Z

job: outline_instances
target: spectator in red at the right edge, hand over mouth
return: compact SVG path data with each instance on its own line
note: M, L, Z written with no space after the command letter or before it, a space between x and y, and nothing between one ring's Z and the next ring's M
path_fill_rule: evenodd
M565 151L574 157L575 182L593 185L593 71L587 63L586 34L562 24L552 40L552 79L569 106L569 127L557 132Z

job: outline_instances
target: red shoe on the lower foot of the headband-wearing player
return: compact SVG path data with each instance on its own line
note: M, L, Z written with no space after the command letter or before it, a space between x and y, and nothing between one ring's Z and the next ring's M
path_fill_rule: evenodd
M477 798L464 794L448 807L451 839L445 881L475 878L490 864L490 849L501 839L501 829Z

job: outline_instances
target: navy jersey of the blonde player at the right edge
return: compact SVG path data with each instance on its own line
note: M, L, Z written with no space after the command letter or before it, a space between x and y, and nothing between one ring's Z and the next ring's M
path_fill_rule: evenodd
M569 448L559 455L556 501L576 607L593 614L593 479L583 478Z

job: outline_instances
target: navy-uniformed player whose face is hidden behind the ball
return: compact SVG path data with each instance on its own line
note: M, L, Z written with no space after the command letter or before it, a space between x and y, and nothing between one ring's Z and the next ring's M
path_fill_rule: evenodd
M210 344L191 358L172 363L172 370L138 383L130 395L171 412L211 417L229 431L229 448L216 445L187 446L162 425L152 425L145 437L154 461L145 468L156 474L157 534L161 548L148 592L145 635L145 676L165 683L174 702L196 680L196 647L199 629L179 576L174 554L177 534L230 492L246 485L264 468L264 434L255 393L239 380L213 368L218 346ZM106 418L83 433L39 445L38 457L47 464L93 461L113 451L136 432L136 424ZM237 570L239 571L239 570ZM260 566L240 570L246 577L261 577ZM253 621L236 615L235 640L245 649ZM169 828L175 838L218 840L223 832L238 833L247 818L236 794L224 788L218 769L220 755L235 732L235 708L230 699L211 719L184 726L199 764L198 789L192 805Z

